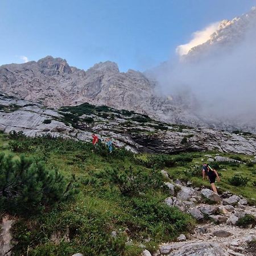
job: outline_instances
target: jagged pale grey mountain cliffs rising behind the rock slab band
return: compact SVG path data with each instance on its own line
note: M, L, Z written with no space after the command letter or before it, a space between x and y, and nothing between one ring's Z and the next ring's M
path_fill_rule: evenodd
M115 109L146 113L154 119L192 126L236 130L243 126L200 117L195 98L168 98L155 92L156 84L143 73L119 72L115 63L95 64L88 71L69 67L67 61L47 56L38 62L0 67L0 90L49 108L89 102ZM191 105L189 102L193 102ZM247 128L247 127L246 127ZM249 126L248 130L254 131Z

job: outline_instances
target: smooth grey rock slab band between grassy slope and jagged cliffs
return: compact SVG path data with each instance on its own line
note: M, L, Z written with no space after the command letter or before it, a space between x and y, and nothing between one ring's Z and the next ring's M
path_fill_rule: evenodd
M213 129L168 125L134 112L107 108L105 112L80 115L73 127L64 115L68 112L43 108L31 101L0 96L0 130L24 131L28 136L51 133L81 141L90 141L92 133L112 137L115 143L134 152L174 153L218 150L256 154L256 138L224 133ZM90 106L93 108L93 106ZM87 118L87 119L86 119ZM86 122L86 120L92 122ZM48 122L46 122L48 121Z

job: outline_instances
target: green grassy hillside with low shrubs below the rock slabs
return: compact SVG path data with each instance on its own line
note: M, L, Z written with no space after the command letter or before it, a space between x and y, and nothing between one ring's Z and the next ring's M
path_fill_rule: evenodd
M155 251L181 232L191 230L195 221L162 202L169 196L160 170L172 179L191 180L209 187L201 179L205 154L134 155L120 148L108 153L104 144L52 138L27 138L23 134L0 135L1 152L43 161L65 179L75 175L79 193L72 200L46 208L40 214L20 214L13 227L14 255L138 255L143 246ZM225 154L221 154L225 155ZM230 156L230 155L225 155ZM256 199L256 167L253 156L236 155L247 164L219 164L221 191ZM204 159L204 160L203 160ZM218 164L218 163L214 163ZM234 175L247 177L247 184L230 183ZM18 213L18 209L17 209ZM5 214L5 212L3 212Z

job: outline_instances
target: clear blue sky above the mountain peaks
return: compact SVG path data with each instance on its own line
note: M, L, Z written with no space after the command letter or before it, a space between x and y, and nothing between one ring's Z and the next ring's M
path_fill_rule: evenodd
M144 71L174 58L193 32L255 5L256 0L0 0L0 65L52 55L82 69L111 60L121 71Z

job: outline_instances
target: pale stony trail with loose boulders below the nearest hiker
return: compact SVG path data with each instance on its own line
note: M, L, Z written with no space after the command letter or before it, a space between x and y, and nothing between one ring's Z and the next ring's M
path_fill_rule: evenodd
M162 173L164 174L164 171ZM229 192L218 196L210 189L187 187L179 180L166 185L170 188L172 196L168 197L165 203L190 213L198 224L192 233L181 234L177 242L160 245L154 256L256 255L255 245L249 246L251 241L256 240L256 228L253 225L244 228L237 226L238 220L246 214L256 217L255 206L249 206L242 196ZM176 188L179 188L177 193ZM151 254L144 250L143 255Z

